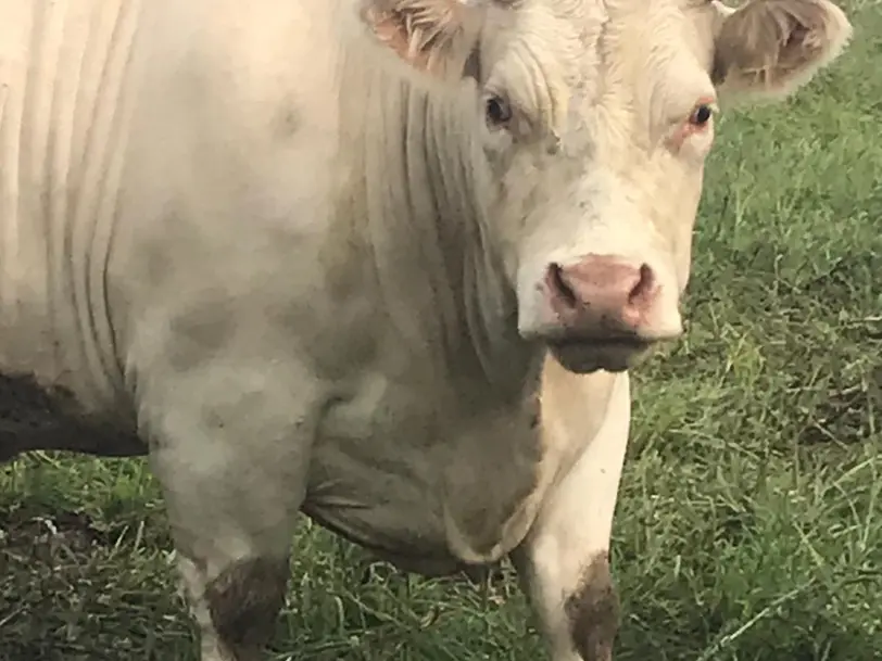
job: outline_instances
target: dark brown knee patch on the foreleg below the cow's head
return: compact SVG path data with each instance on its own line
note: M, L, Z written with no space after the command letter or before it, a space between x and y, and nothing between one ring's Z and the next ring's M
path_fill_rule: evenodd
M610 661L619 625L619 600L607 554L587 568L566 602L572 643L584 661Z

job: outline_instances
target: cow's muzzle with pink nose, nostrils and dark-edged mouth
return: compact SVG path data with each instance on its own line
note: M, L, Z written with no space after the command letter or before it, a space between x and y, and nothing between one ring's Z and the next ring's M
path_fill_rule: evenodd
M553 318L541 334L576 372L628 369L656 343L682 333L676 288L645 263L589 254L551 264L541 291Z

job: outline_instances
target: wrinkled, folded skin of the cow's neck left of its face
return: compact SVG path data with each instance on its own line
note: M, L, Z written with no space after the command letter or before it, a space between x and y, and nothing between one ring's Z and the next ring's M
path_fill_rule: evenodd
M474 84L453 89L379 66L368 80L367 243L391 320L413 355L431 355L436 373L482 376L519 395L539 352L517 333L488 223L495 185L476 135Z

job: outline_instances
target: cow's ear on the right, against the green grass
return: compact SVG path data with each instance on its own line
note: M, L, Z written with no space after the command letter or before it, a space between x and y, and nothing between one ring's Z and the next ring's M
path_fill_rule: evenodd
M835 60L852 35L829 0L751 0L721 10L713 79L722 97L785 97Z

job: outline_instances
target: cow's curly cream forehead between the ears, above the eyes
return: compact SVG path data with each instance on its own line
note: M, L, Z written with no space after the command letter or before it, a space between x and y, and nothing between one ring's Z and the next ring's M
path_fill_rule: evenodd
M571 117L565 110L597 104L664 124L714 93L720 12L709 0L522 0L516 12L491 12L488 21L502 37L504 52L491 42L489 53L500 64L500 87L546 88L515 96L544 97L557 109L543 117L554 129ZM489 82L494 87L493 74Z

